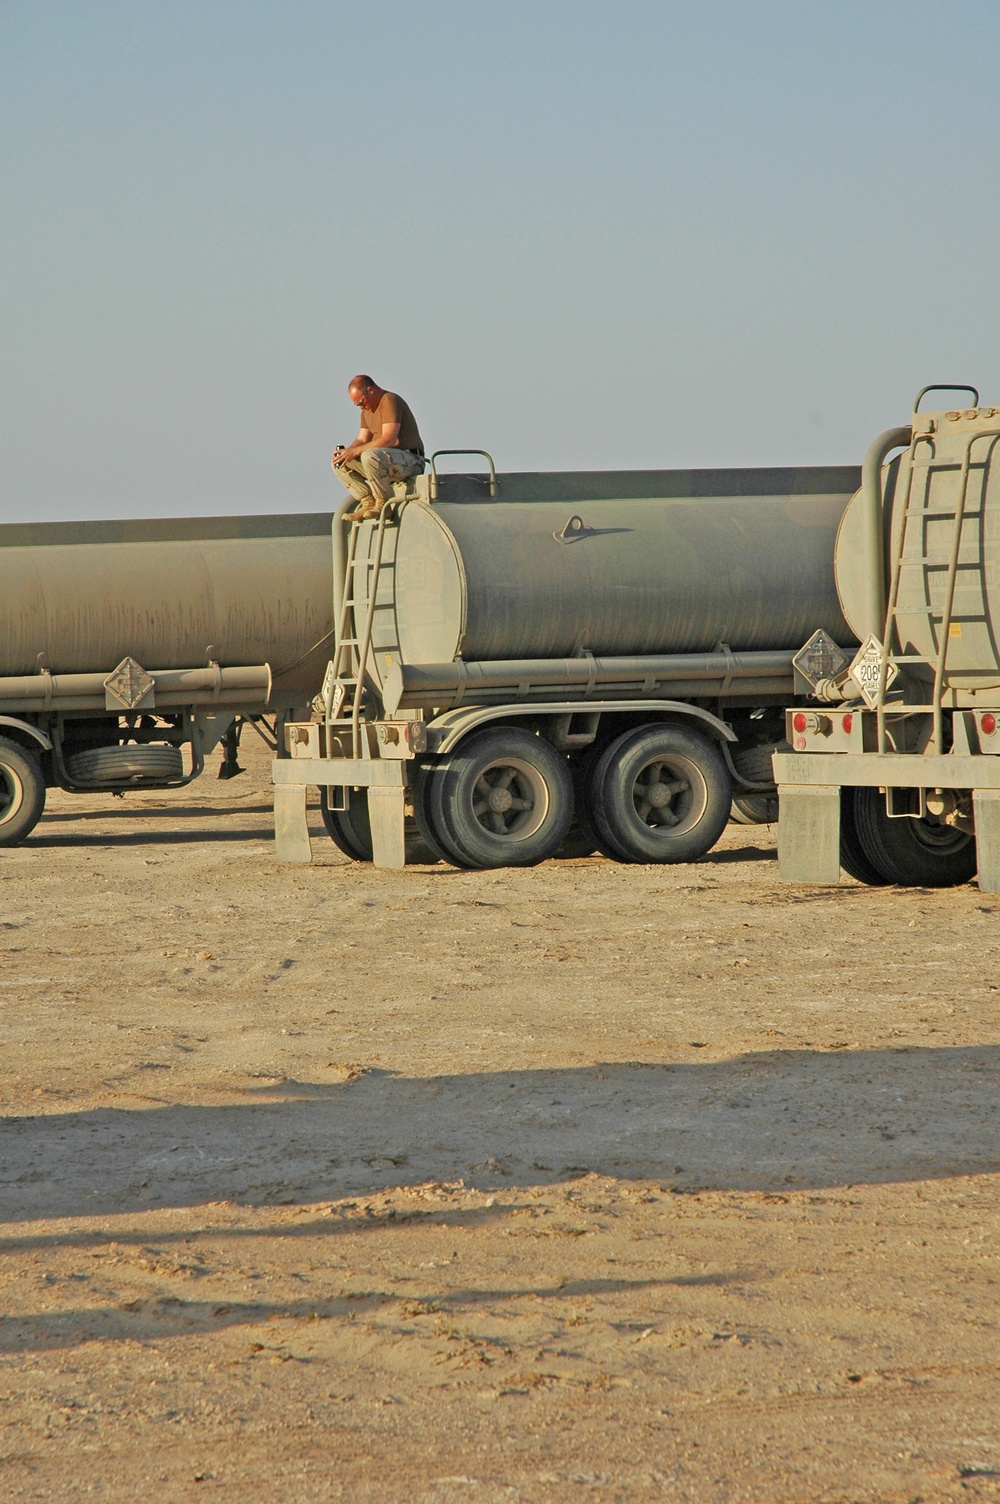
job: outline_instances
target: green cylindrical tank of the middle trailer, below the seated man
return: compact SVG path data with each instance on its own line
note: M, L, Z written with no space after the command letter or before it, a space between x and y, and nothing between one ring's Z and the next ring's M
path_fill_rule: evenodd
M420 665L798 648L817 627L850 645L833 540L857 481L856 466L501 475L489 501L456 478L402 511L376 647Z

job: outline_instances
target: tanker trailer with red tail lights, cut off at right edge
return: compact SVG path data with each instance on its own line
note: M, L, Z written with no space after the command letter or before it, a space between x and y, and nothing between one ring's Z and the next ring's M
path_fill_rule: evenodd
M998 456L1000 406L965 385L868 451L835 543L862 645L803 645L774 757L789 881L1000 892Z

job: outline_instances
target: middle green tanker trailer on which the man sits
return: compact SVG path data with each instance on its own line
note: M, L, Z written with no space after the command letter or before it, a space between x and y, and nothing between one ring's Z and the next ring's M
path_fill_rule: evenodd
M687 862L774 799L792 656L853 647L833 544L857 466L400 483L332 520L334 653L274 763L278 856L308 785L356 860ZM487 474L489 469L489 474ZM806 686L808 687L808 686Z

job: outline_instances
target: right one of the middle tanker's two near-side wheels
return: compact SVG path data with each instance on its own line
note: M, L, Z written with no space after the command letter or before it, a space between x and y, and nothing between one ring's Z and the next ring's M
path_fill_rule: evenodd
M696 862L725 830L731 805L722 754L687 726L626 731L594 770L594 824L620 862Z

